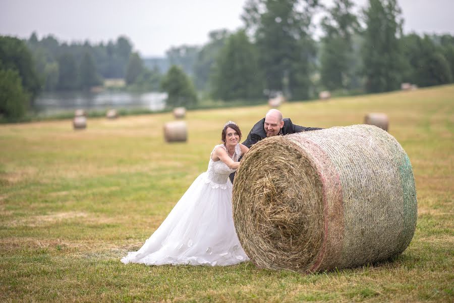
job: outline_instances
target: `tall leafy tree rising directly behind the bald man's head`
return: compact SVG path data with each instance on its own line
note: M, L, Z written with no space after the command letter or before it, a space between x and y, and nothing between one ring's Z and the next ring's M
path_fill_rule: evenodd
M282 91L288 86L294 99L310 96L315 59L310 26L317 7L317 0L246 3L242 17L257 45L267 89Z

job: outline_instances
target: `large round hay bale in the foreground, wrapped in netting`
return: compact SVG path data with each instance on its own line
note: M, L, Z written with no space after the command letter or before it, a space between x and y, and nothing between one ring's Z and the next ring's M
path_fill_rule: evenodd
M391 135L370 125L266 138L236 173L233 213L260 268L307 273L386 260L415 231L412 166Z

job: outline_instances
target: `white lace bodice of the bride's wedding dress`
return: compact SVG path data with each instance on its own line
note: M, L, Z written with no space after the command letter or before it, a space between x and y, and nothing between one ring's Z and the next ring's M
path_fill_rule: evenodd
M235 172L235 169L230 169L225 163L222 161L213 161L211 159L211 155L213 154L214 150L221 146L225 150L227 148L224 144L219 144L214 146L213 151L210 154L210 162L208 163L208 170L206 171L206 182L210 183L212 188L227 188L227 184L230 182L229 175ZM227 152L229 154L229 152ZM235 153L231 157L233 161L238 161L241 156L241 148L240 144L235 146Z

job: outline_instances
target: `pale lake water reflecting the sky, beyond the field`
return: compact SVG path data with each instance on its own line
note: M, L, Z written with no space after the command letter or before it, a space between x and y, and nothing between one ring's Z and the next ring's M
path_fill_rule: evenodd
M44 92L35 100L35 110L40 113L62 112L82 108L85 110L165 108L165 92L133 93L122 91L102 92Z

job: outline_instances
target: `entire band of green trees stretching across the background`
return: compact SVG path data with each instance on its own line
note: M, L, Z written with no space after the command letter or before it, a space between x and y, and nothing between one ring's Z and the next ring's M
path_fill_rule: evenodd
M195 106L198 95L247 103L273 92L303 100L321 90L353 94L395 90L402 82L453 82L453 36L403 34L396 0L369 0L359 16L354 9L351 0L330 7L318 0L248 0L242 29L212 31L201 46L173 47L165 62L141 58L125 36L93 45L35 33L27 40L0 37L0 115L10 115L5 107L15 104L13 92L21 115L23 100L32 102L42 90L90 89L107 78L123 78L127 89L165 90L171 107ZM324 14L318 40L317 12Z

